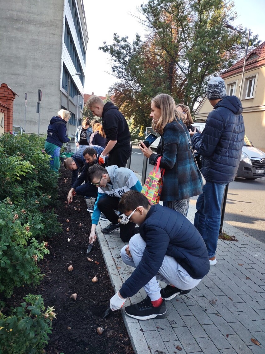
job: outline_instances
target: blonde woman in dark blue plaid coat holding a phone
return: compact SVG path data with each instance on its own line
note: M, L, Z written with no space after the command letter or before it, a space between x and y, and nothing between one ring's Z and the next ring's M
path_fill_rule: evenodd
M143 143L139 145L149 164L155 165L162 156L160 167L165 169L160 200L163 205L187 216L189 200L202 193L202 178L195 165L188 131L176 110L172 96L161 93L151 102L152 127L161 135L156 154ZM186 132L187 131L187 132Z

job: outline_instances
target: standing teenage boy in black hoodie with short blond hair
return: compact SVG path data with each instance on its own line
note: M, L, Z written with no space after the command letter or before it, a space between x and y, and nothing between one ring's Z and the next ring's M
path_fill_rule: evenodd
M106 134L106 147L99 157L99 164L104 165L106 155L107 166L125 167L131 155L130 132L126 119L113 103L104 103L99 96L91 96L87 105L94 116L102 117Z

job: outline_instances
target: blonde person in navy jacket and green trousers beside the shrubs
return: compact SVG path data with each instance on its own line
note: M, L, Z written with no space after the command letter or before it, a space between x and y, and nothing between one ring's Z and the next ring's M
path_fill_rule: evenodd
M63 143L68 143L70 139L66 135L66 123L71 117L70 112L60 109L58 116L52 117L47 130L45 141L45 151L51 155L51 170L58 172L60 168L60 149Z

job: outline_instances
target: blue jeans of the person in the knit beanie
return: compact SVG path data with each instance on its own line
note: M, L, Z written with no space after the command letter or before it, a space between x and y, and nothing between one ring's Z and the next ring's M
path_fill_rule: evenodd
M207 181L196 202L194 226L204 239L209 258L216 254L221 223L221 204L226 184Z

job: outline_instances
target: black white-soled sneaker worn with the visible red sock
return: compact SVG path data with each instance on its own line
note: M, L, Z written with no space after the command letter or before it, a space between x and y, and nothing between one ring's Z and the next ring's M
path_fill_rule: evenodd
M167 316L165 300L163 300L159 307L153 307L149 296L137 304L126 306L125 313L137 320L161 319Z

